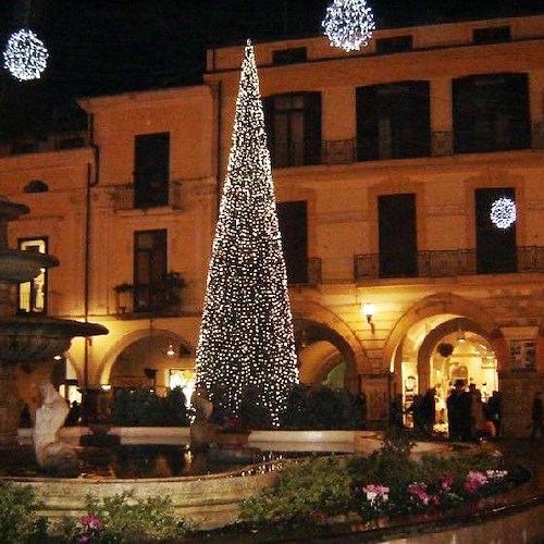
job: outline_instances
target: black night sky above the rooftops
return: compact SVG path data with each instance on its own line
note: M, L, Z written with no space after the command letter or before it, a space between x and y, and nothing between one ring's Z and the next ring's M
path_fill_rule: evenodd
M0 70L0 114L5 108L12 112L36 102L199 83L206 46L243 44L248 37L258 41L317 35L330 1L0 0L2 50L26 12L29 26L50 51L41 79L20 83ZM379 28L544 13L544 0L370 0L369 4ZM25 5L30 5L29 12Z

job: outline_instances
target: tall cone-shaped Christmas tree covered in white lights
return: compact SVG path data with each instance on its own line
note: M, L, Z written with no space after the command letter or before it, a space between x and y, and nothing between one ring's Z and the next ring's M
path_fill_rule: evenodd
M277 425L298 382L264 114L248 40L196 354L197 386L228 416ZM243 406L244 405L244 406Z

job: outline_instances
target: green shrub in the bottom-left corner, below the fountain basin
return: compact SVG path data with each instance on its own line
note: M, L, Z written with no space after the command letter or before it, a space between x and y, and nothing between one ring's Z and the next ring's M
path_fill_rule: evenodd
M0 482L0 542L39 542L47 523L37 516L38 508L30 486Z

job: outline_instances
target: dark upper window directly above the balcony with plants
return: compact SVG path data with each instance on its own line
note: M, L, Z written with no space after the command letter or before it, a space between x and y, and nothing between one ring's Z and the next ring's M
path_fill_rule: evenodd
M134 206L154 208L169 203L170 133L134 138Z

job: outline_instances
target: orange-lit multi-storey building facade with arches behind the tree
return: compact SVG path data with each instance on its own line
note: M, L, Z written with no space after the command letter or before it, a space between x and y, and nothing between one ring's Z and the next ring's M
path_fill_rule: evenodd
M255 45L300 379L363 392L371 424L430 387L443 420L463 379L499 392L505 435L527 433L544 386L543 28ZM199 86L81 100L77 147L0 158L0 191L32 210L12 245L61 262L20 311L110 330L32 375L190 387L243 51L209 50Z

